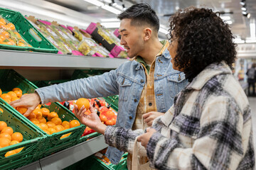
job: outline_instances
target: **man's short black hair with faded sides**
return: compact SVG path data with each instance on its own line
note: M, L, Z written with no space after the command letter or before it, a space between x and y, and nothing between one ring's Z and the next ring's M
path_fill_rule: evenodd
M124 12L120 13L117 18L119 20L129 18L132 19L132 26L144 26L149 25L159 31L159 18L156 16L156 12L149 6L149 4L135 4Z

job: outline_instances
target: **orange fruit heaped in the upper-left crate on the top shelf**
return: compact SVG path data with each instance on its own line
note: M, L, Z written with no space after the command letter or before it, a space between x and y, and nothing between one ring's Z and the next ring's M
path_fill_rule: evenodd
M0 16L0 44L32 47L17 32L13 23Z

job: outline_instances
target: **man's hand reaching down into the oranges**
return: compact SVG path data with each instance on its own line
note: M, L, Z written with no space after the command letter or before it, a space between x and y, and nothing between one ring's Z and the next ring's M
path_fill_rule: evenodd
M36 108L36 106L38 106L39 103L41 103L41 98L38 94L34 93L23 95L20 99L12 101L10 105L14 108L18 106L28 108L28 111L23 114L24 116L28 117L28 115Z

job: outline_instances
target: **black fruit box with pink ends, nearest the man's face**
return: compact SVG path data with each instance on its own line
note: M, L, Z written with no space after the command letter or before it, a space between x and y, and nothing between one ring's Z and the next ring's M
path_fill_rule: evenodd
M97 28L96 23L90 23L90 25L87 27L86 32L92 35L92 38L96 40L97 42L100 42L107 50L110 51L111 55L114 57L117 57L120 52L122 52L122 47L119 47L118 45L112 43L110 44L105 40L105 38L102 37L98 33L99 28Z

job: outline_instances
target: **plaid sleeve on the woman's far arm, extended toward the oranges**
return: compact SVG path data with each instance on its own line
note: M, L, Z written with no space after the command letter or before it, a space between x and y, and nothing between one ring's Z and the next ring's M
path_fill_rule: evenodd
M127 130L121 127L107 126L105 130L105 142L107 145L116 147L123 152L132 153L135 138L143 133L144 131L142 129ZM140 143L139 155L146 157L146 149Z

